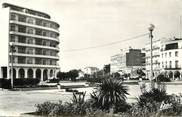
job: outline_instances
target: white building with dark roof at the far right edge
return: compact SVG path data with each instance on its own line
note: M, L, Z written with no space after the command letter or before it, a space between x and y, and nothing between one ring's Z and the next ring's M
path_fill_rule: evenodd
M165 71L172 78L175 74L178 74L176 77L181 78L182 39L174 38L163 41L160 55L162 71Z

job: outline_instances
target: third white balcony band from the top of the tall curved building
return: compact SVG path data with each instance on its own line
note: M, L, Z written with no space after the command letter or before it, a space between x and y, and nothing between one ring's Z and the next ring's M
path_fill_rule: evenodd
M27 36L27 37L34 37L34 38L42 38L42 39L46 39L46 40L52 40L52 41L59 42L58 38L52 38L52 37L35 35L35 34L22 33L22 32L17 32L17 31L10 31L10 34L20 35L20 36Z

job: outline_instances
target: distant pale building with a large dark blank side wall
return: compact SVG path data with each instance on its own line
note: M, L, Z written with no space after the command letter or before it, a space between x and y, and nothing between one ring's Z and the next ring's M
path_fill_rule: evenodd
M120 54L111 56L111 73L132 73L138 68L144 68L145 53L140 49L122 50Z

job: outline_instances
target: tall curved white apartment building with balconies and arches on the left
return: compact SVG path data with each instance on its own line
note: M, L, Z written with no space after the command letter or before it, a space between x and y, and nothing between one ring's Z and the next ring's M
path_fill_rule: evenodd
M0 77L56 77L59 70L59 24L47 13L3 3L0 13ZM13 43L15 52L12 52Z

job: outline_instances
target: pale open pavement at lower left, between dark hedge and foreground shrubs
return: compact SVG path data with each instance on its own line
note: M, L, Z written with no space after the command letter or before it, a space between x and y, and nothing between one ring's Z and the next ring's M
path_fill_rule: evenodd
M0 91L0 116L18 116L20 113L33 112L35 104L45 101L68 101L71 94L46 91Z

